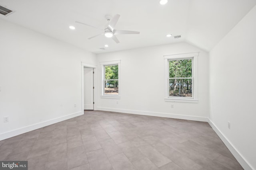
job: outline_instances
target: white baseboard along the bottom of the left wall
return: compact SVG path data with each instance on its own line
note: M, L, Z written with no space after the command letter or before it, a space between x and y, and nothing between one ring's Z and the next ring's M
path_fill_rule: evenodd
M26 133L26 132L29 132L29 131L33 131L35 129L39 129L41 127L45 127L45 126L48 126L48 125L52 125L54 123L58 123L60 121L71 119L73 117L80 116L80 115L83 115L83 114L84 114L84 111L79 111L79 112L76 112L76 113L71 113L69 115L64 115L62 117L57 117L55 119L50 119L50 120L47 120L47 121L43 121L43 122L40 122L40 123L35 123L33 125L28 125L26 127L22 127L22 128L19 128L19 129L15 129L15 130L12 130L12 131L1 133L0 134L0 141L4 140L4 139L8 139L10 137L14 137L16 135L20 135L22 133Z

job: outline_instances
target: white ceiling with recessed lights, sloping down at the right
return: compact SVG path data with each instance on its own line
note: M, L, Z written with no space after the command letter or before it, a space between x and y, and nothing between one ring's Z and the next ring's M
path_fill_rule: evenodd
M256 5L256 0L169 0L164 6L159 0L0 0L0 5L15 11L0 15L0 19L93 53L181 41L210 51ZM121 15L115 29L140 31L140 35L116 35L118 44L104 35L89 40L102 31L75 23L104 29L106 14ZM76 29L70 30L70 25ZM167 38L168 33L182 38ZM100 50L103 47L106 50Z

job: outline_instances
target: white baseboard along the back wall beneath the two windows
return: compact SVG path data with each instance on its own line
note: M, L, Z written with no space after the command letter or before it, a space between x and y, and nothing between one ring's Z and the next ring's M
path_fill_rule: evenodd
M160 112L139 111L139 110L129 110L129 109L116 109L116 108L108 108L108 107L97 107L97 110L208 122L208 117L200 117L200 116L177 115L177 114L172 114L172 113L160 113Z

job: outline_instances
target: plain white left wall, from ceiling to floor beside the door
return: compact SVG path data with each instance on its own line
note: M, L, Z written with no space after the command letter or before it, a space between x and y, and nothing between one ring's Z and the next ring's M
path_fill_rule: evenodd
M95 64L96 55L4 20L0 25L0 140L82 114L81 62Z

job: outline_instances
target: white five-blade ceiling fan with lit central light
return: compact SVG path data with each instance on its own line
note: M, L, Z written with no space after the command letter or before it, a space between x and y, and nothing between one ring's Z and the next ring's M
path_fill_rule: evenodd
M104 34L106 37L112 38L116 43L119 43L119 40L117 39L116 35L120 35L120 34L140 34L140 32L138 32L138 31L128 31L128 30L114 29L118 19L120 18L119 14L116 14L113 17L112 20L111 20L110 16L105 16L105 18L108 20L108 25L107 25L107 27L105 29L100 29L100 28L97 28L97 27L94 27L92 25L88 25L86 23L82 23L82 22L79 22L79 21L76 21L76 23L80 23L80 24L87 25L89 27L93 27L93 28L100 29L100 30L104 31L104 33L101 33L101 34L98 34L98 35L94 35L93 37L90 37L88 39L92 39L94 37L97 37L99 35L103 35Z

